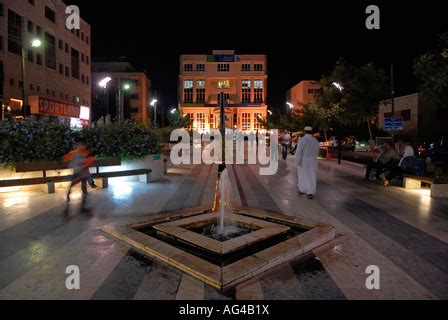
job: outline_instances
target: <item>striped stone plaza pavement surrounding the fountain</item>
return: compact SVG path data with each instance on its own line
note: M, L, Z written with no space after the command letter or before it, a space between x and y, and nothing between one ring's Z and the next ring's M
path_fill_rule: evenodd
M221 294L106 236L101 227L213 203L218 166L169 167L151 184L111 180L90 191L90 215L63 214L65 192L0 194L0 299L342 300L448 299L448 201L427 190L362 180L361 166L321 160L318 193L297 193L293 159L274 176L255 165L229 166L232 202L313 218L335 240L301 259ZM80 290L67 290L66 267L79 266ZM366 288L366 268L381 272Z

